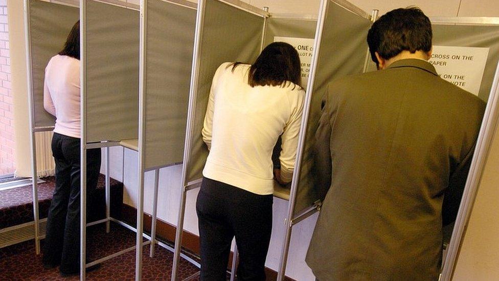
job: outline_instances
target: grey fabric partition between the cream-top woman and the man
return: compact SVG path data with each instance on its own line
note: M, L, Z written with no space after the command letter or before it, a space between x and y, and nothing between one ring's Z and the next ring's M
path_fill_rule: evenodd
M319 58L317 60L315 80L312 88L310 113L305 137L305 147L300 169L296 205L294 215L321 200L322 194L313 185L311 175L311 147L319 118L321 102L328 83L336 78L362 73L367 53L367 32L371 26L368 18L354 14L345 8L329 1L322 40L319 42ZM316 47L317 48L317 47Z

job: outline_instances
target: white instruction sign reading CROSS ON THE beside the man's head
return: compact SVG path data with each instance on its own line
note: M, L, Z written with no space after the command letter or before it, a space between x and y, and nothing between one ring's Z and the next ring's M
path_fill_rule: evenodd
M433 46L429 62L440 77L478 96L488 55L489 48Z

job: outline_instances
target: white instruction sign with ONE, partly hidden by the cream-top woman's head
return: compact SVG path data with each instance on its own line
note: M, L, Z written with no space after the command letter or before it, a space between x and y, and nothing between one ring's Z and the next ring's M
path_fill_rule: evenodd
M313 38L274 37L274 42L286 42L298 51L302 64L302 86L305 89L307 88L308 74L310 73L310 64L312 63L313 41Z

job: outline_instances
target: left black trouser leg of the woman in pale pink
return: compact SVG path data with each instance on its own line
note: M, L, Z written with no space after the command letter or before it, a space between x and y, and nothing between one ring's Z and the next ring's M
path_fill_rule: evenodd
M71 164L62 155L62 138L59 134L54 134L52 137L52 155L55 160L55 189L49 208L47 234L43 247L43 264L49 267L59 265L61 262L64 222L71 185Z

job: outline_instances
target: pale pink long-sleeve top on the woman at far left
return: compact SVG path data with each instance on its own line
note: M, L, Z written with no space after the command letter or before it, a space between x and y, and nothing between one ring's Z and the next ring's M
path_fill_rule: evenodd
M43 107L56 117L55 133L80 138L80 60L61 55L50 59Z

